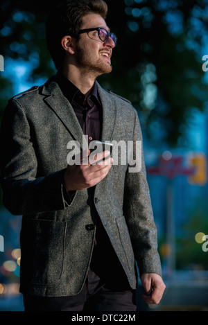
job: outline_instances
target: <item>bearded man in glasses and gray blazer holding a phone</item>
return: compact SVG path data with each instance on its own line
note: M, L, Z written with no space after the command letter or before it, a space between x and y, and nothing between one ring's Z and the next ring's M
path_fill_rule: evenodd
M94 155L85 146L132 141L135 153L141 141L132 105L96 82L112 71L116 46L106 14L103 0L60 6L46 28L57 75L4 112L3 201L23 214L26 310L136 310L137 267L147 303L164 292L143 154L131 173L106 150ZM67 166L70 143L80 143L80 164Z

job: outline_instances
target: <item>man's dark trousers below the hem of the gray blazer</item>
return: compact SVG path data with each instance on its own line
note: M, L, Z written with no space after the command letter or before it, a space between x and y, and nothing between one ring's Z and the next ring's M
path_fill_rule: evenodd
M135 290L107 288L89 270L83 290L76 296L38 297L24 295L26 311L135 311Z

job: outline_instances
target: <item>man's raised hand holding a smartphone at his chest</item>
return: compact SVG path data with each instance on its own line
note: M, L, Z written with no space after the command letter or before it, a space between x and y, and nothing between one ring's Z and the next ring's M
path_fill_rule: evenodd
M83 161L80 165L74 164L67 166L64 173L64 184L67 192L81 191L85 188L92 187L107 176L112 166L110 152L103 151L99 152L97 155L89 155L90 150L87 150L87 155L83 157ZM105 157L108 158L102 160Z

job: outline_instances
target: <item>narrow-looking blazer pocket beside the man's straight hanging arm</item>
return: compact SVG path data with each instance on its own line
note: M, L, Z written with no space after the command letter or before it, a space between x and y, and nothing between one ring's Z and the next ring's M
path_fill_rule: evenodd
M130 240L130 234L128 227L125 222L125 217L116 218L116 225L119 231L119 238L121 245L123 247L123 252L125 253L125 258L128 262L128 267L130 271L134 270L135 267L135 254L132 249L132 243Z

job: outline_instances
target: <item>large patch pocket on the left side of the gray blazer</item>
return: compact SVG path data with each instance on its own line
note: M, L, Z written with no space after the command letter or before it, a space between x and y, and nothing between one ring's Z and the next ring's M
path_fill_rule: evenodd
M31 283L54 285L62 276L67 224L53 220L28 220L28 223L30 252L26 263Z

